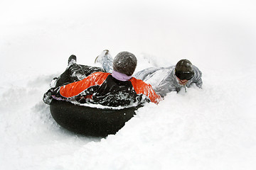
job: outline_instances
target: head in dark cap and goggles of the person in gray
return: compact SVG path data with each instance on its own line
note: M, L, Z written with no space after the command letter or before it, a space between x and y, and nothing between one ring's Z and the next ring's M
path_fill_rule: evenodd
M194 76L192 63L186 59L178 61L175 67L175 75L179 84L185 85L188 83L188 80Z

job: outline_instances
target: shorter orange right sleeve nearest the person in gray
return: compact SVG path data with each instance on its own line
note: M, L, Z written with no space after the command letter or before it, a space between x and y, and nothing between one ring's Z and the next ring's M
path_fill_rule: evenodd
M153 103L158 104L159 101L161 101L161 96L156 94L156 92L152 89L152 86L150 84L146 84L144 81L140 79L135 79L132 77L130 79L132 82L132 86L134 87L134 90L137 94L144 94L149 97L150 101Z

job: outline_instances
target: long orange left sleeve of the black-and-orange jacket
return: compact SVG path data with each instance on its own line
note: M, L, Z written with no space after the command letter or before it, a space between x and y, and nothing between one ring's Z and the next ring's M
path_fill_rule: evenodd
M78 94L82 93L82 91L88 89L90 86L101 85L109 75L110 73L105 72L95 72L90 74L85 79L61 86L60 95L65 98L77 96Z

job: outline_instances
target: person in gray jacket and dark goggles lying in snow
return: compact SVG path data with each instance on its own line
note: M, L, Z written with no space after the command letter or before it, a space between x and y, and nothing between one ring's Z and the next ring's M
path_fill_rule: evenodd
M196 84L202 88L202 72L189 60L180 60L176 66L150 67L134 74L136 79L142 79L151 84L156 94L164 97L171 91L181 91Z

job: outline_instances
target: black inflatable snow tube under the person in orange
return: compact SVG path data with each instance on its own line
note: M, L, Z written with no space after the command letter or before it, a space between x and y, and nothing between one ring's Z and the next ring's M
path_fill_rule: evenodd
M135 111L142 106L130 108L91 108L79 106L68 101L53 100L50 113L63 128L90 136L106 137L115 134L130 120Z

